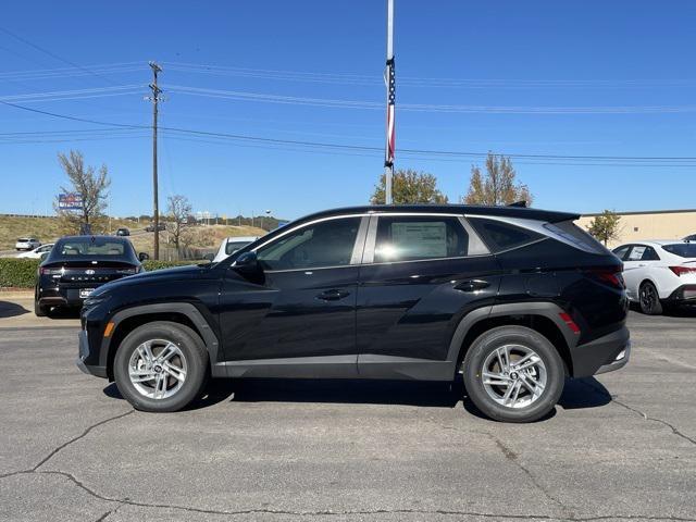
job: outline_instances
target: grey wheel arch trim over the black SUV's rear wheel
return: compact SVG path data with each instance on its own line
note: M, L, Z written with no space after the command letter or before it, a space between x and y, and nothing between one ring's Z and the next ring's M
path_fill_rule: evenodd
M520 302L494 304L473 310L460 321L450 341L448 357L459 371L472 343L484 332L507 325L526 326L546 337L558 350L566 372L573 375L571 349L577 344L577 336L569 331L561 320L563 310L552 302Z

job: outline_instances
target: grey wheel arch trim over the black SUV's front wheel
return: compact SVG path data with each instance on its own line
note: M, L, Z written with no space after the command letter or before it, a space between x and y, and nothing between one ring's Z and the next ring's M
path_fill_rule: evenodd
M110 381L113 381L113 361L121 341L138 326L154 321L169 321L188 326L203 341L212 374L224 372L224 366L220 366L222 370L215 366L220 349L217 336L202 313L190 302L163 302L127 308L116 312L109 320L110 323L114 323L113 332L102 339L99 363L105 366Z

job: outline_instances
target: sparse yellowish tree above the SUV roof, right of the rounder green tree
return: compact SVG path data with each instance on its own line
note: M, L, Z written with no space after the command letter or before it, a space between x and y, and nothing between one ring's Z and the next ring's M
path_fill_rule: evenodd
M526 201L532 204L534 197L526 185L517 182L517 172L510 158L488 152L486 173L478 165L471 166L469 191L462 198L467 204L510 204Z

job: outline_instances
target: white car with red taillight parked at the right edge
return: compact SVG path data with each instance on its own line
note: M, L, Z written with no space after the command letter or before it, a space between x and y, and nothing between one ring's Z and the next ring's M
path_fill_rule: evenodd
M629 299L643 313L659 314L670 304L696 306L696 243L636 241L613 253L623 261Z

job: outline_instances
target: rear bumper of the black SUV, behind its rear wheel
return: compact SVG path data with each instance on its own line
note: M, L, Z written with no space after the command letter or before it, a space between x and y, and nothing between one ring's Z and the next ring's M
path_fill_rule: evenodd
M631 355L629 328L607 334L571 349L573 377L587 377L599 373L613 372L626 365Z

